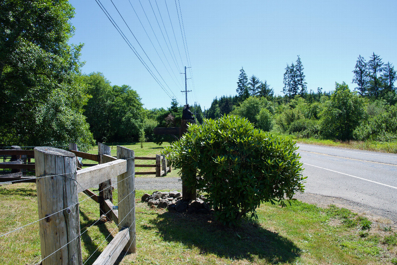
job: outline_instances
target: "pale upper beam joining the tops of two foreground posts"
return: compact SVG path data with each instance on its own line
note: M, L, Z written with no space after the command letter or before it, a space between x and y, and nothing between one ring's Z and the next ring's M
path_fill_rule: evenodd
M115 178L127 170L127 161L118 159L105 164L98 164L89 168L77 171L76 180L79 183L77 191L81 192L96 187L100 183Z

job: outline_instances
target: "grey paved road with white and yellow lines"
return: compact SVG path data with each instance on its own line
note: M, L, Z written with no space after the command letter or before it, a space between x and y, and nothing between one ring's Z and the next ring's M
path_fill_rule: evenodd
M308 176L306 194L298 199L328 197L330 203L348 204L397 223L396 154L298 145L303 174Z

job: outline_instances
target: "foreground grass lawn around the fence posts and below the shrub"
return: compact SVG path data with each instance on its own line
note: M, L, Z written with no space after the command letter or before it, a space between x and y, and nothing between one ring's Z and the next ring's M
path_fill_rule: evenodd
M265 203L258 221L244 219L230 228L212 215L150 208L139 199L146 192L152 191L137 191L137 253L119 264L397 264L397 234L385 219L362 230L366 218L347 209L296 201L285 208ZM0 198L0 235L38 219L35 184L3 186ZM79 194L79 201L85 198ZM97 203L80 204L81 233L98 218ZM118 232L115 228L114 222L99 221L83 233L83 262L93 253L86 264L94 262ZM39 260L38 223L0 237L0 264Z

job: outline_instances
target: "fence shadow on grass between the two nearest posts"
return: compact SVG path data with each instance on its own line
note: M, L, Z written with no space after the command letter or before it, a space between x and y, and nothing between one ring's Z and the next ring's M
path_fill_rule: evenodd
M88 256L87 256L88 261L87 261L87 259L85 259L85 260L83 259L83 263L87 262L85 264L91 265L94 263L94 261L99 257L99 255L101 253L100 250L96 250L96 249L99 247L104 248L104 244L106 244L106 245L109 244L109 242L112 241L113 236L110 234L108 228L106 228L106 225L104 222L102 222L102 221L96 222L96 220L91 220L82 211L80 211L80 215L82 217L80 219L80 221L81 221L80 233L83 233L85 230L87 230L87 228L89 228L92 225L92 226L98 227L99 234L103 234L103 236L106 238L102 244L103 240L96 240L96 239L93 240L93 238L91 238L91 236L88 234L89 231L84 232L84 234L81 235L81 242L84 244L85 250L87 251L87 254L88 254ZM90 230L91 229L93 229L93 228L90 228ZM100 244L102 244L102 246L100 246ZM93 256L90 257L91 255L93 255Z

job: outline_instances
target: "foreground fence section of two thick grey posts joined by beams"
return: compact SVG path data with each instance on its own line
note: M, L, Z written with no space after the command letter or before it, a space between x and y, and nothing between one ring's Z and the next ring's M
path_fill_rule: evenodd
M104 203L119 232L93 263L112 265L122 250L136 251L134 151L118 146L114 158L103 150L98 155L100 164L81 170L73 153L51 147L34 150L42 265L83 264L78 193L117 176L118 209L109 199ZM111 186L106 189L112 193Z

